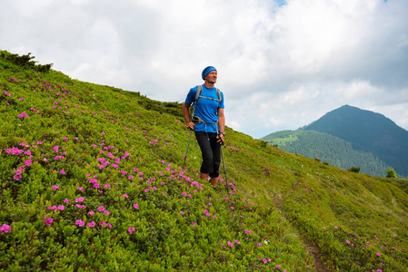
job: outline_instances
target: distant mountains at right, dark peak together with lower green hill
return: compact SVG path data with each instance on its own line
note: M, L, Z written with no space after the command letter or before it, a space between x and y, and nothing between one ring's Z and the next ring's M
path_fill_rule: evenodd
M308 131L308 134L304 134ZM310 134L310 131L316 131ZM387 167L392 167L399 176L408 175L408 131L397 126L383 114L361 110L344 105L327 112L319 120L313 121L296 131L284 135L282 131L271 133L262 140L278 144L284 151L295 152L308 158L326 160L334 166L348 169L361 167L362 172L384 176ZM320 133L327 133L338 140L351 144L347 152L338 149L338 140ZM287 137L296 141L284 141ZM313 135L313 138L311 138ZM324 141L313 141L322 139ZM324 148L323 148L324 146ZM348 145L346 145L348 146ZM323 151L324 150L324 151ZM368 161L367 161L368 160Z

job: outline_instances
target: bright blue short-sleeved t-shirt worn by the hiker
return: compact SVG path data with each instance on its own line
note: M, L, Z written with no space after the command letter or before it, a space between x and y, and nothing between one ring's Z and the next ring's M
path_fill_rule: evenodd
M216 88L207 89L207 87L205 87L204 84L202 85L202 88L203 91L201 92L200 96L211 97L218 100ZM187 97L185 98L185 102L191 105L195 100L196 93L197 86L190 89L190 92L188 92ZM214 101L212 99L207 99L204 97L200 97L198 99L198 102L195 105L194 114L199 116L207 123L215 123L218 121L218 109L224 109L224 93L221 92L221 102ZM215 128L215 124L211 125L202 122L195 124L194 131L216 132L217 130Z

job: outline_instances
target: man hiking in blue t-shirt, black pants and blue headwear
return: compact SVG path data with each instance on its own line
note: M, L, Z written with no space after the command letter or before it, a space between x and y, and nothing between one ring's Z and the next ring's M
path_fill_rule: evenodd
M215 189L220 175L220 150L225 135L224 94L214 87L217 71L213 66L203 70L202 78L204 84L195 86L188 92L183 105L183 115L187 128L194 131L203 155L200 179L207 180L210 177L211 185ZM192 103L194 110L191 120L188 109Z

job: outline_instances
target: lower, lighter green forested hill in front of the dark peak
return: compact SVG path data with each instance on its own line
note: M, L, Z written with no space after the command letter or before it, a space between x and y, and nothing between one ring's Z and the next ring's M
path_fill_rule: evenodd
M261 140L275 144L284 151L301 154L310 159L326 161L348 170L359 167L361 173L385 177L390 165L371 152L353 149L353 144L333 135L318 131L278 131ZM403 177L398 173L398 177Z

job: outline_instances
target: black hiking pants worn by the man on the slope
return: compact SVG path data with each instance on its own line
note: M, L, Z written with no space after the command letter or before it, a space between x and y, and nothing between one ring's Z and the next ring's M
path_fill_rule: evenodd
M221 144L217 142L217 133L195 131L195 138L200 146L203 163L200 172L218 178L221 164Z

